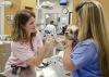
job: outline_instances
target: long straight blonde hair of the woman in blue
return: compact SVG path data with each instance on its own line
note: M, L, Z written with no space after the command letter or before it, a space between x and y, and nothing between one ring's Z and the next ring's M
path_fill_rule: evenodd
M99 52L99 67L102 77L109 76L109 40L106 31L106 24L104 18L102 7L98 1L85 0L76 7L76 12L81 18L81 26L78 31L78 40L88 38L94 39L100 49Z

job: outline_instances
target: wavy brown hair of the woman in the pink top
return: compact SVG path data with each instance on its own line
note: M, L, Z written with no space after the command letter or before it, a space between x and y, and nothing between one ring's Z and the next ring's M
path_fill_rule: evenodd
M29 40L24 27L31 17L35 17L35 14L29 10L22 10L15 14L11 33L13 41L24 42ZM32 36L35 34L36 33L32 34Z

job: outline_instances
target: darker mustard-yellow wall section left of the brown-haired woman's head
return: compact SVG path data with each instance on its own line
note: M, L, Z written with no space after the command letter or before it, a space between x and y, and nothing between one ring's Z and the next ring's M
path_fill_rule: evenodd
M4 35L11 34L11 21L10 16L14 15L19 10L21 5L21 0L11 0L13 5L7 7L4 9Z

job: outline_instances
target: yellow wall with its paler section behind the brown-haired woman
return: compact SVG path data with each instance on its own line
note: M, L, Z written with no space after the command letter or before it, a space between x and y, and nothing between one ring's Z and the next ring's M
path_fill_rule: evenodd
M25 9L25 7L33 8L35 11L36 0L11 0L13 5L4 9L4 35L11 34L10 16L14 15L17 11ZM9 20L9 21L8 21Z

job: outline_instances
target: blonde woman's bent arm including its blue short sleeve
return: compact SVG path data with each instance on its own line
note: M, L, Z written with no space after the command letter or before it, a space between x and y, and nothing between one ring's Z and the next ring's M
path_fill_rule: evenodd
M64 67L69 70L80 69L92 64L92 62L94 61L94 56L97 55L97 51L90 42L85 41L77 43L73 49L73 52L70 53L69 48L65 51Z

